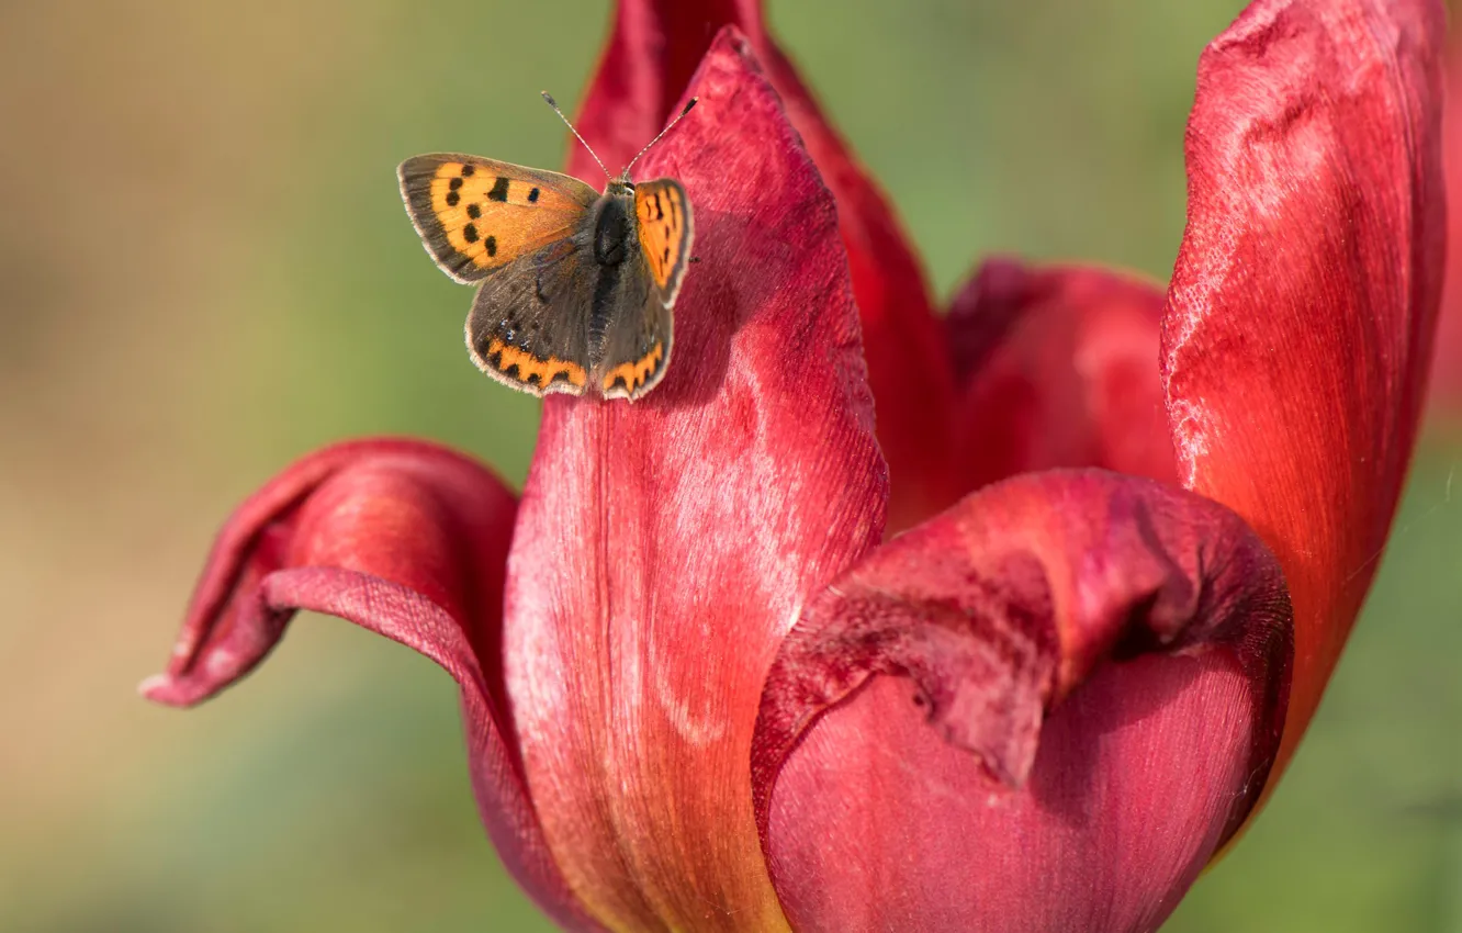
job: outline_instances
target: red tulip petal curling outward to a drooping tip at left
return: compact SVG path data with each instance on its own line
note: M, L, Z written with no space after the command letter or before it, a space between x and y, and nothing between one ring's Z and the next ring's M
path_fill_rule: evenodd
M427 443L338 445L295 462L228 521L165 674L143 693L186 706L257 665L295 610L415 648L462 686L472 787L503 863L560 924L598 930L544 845L504 728L499 661L513 494Z

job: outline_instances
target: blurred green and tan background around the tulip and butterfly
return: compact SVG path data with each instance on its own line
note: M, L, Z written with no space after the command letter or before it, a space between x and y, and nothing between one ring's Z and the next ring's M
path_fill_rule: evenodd
M1237 0L770 0L947 295L991 252L1167 278L1203 44ZM213 529L354 434L520 483L538 405L392 170L563 162L607 0L0 6L0 930L541 930L477 820L455 686L301 617L178 714ZM1462 932L1462 431L1434 426L1289 777L1168 930Z

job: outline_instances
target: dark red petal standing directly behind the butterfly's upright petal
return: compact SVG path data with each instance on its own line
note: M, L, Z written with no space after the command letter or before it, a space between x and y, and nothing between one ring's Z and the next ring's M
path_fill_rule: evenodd
M902 528L944 507L959 491L949 418L953 379L924 269L879 187L823 118L797 69L766 31L756 0L620 0L579 132L611 168L624 165L678 110L692 70L722 25L751 42L823 181L838 199L852 291L863 322L879 442L893 481L890 522ZM700 104L705 108L705 101ZM694 118L715 118L700 114ZM678 132L678 130L677 130ZM575 143L570 171L599 174ZM649 177L637 170L639 177ZM722 178L732 181L732 178Z

